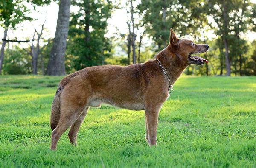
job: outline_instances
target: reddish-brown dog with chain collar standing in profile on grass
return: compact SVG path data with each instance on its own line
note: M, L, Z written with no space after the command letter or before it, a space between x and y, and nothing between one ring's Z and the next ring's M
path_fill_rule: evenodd
M145 110L146 140L150 146L157 145L158 113L169 96L169 89L188 65L207 63L191 54L206 52L208 48L178 39L171 29L169 45L154 60L125 67L87 67L66 76L52 102L51 149L56 149L59 138L70 126L68 136L76 145L77 133L89 107L99 107L102 103Z

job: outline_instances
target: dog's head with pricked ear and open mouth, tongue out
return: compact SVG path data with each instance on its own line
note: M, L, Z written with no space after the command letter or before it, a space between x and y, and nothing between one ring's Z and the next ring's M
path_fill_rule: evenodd
M204 53L208 50L209 45L204 44L195 44L188 39L179 39L176 37L175 32L171 29L170 32L170 48L175 52L177 56L182 59L182 61L187 64L202 65L205 63L208 64L206 59L203 59L199 56L191 56L193 53Z

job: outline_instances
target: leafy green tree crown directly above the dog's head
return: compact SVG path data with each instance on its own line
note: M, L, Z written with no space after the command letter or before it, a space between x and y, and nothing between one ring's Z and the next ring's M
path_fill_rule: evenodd
M152 36L160 51L169 44L170 28L180 34L194 35L203 27L206 14L202 6L196 0L143 0L137 9L143 14L145 33Z

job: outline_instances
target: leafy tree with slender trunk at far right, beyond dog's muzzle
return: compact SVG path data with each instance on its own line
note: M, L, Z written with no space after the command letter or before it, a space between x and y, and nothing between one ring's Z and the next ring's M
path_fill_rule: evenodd
M250 6L250 8L248 8ZM218 27L216 34L221 37L225 48L226 75L230 76L232 56L230 46L234 42L233 34L239 39L239 33L255 27L253 23L252 3L246 0L211 0L206 1L204 9L212 17ZM236 49L237 50L237 49ZM234 53L234 52L233 52Z

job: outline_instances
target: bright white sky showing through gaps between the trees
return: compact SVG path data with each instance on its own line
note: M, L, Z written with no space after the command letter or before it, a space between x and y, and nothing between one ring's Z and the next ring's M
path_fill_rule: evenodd
M256 0L251 0L253 3L256 3ZM122 1L125 5L125 1ZM29 4L28 4L29 6ZM32 8L32 6L31 6ZM77 7L71 6L70 7L71 12L76 12ZM25 21L21 24L17 25L15 27L15 30L9 30L7 32L9 39L15 39L18 40L26 40L26 39L32 39L34 30L37 29L37 31L41 31L41 25L46 20L44 27L45 30L43 31L43 38L54 38L55 36L55 30L56 30L56 23L58 18L58 4L55 2L50 3L48 6L44 5L41 7L37 7L36 11L31 13L31 17L35 18L34 21ZM122 9L116 9L111 18L108 19L108 33L106 34L106 37L111 37L116 33L116 28L120 31L120 33L124 34L128 31L127 28L127 18L128 14L124 8ZM140 33L138 31L138 33ZM214 38L213 32L209 32L207 34L208 38ZM256 39L256 33L250 33L244 34L247 39L250 41L253 41ZM0 27L0 37L3 38L3 28ZM139 37L139 36L137 36ZM189 37L189 36L185 36ZM144 42L148 41L148 39L144 39ZM31 44L31 43L29 43ZM27 47L28 43L20 43L22 47Z

